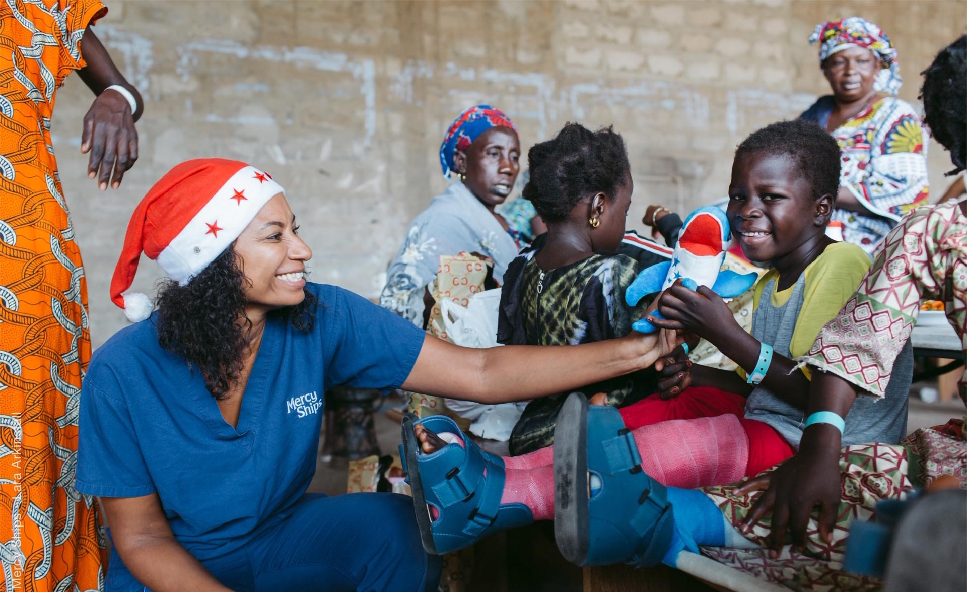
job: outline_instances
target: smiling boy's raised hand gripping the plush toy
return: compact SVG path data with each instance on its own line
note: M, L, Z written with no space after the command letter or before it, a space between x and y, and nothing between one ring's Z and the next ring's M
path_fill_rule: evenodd
M649 317L648 321L661 329L684 329L712 343L743 331L721 296L704 285L692 290L677 280L656 301L665 320Z

